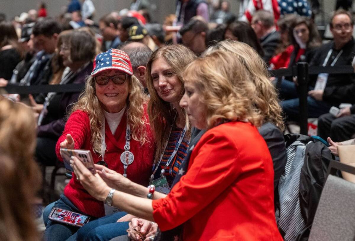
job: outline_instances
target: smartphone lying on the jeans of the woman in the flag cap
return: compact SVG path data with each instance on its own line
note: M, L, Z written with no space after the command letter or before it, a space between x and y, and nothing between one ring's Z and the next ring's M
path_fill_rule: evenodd
M48 218L56 222L65 223L77 227L83 226L84 224L89 222L90 219L89 216L56 207L52 209Z

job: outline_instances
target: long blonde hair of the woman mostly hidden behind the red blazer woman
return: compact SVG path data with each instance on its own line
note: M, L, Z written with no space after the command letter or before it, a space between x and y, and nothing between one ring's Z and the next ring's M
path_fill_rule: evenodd
M220 41L214 46L209 47L204 56L208 56L215 51L222 50L240 58L243 65L249 72L250 80L255 85L257 95L253 99L254 105L260 110L262 124L271 122L281 131L285 129L282 118L282 108L275 87L269 80L269 73L265 62L260 55L249 45L233 40Z

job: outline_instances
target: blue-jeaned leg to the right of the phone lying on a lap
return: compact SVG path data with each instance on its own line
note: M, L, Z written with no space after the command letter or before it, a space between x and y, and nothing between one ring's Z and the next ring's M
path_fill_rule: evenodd
M126 214L126 212L117 212L85 224L77 231L76 240L109 241L114 237L127 235L126 230L129 228L129 222L116 223ZM70 239L70 241L72 240L75 239Z

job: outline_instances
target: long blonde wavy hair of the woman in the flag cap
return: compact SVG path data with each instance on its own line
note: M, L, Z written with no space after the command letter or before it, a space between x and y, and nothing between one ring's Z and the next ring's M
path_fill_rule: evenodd
M126 100L126 111L132 127L132 138L141 142L141 145L143 145L148 141L146 130L147 118L144 115L144 106L147 104L148 98L144 95L143 85L137 77L134 75L129 76L127 81L129 83L129 95ZM73 105L70 114L76 110L81 110L89 114L91 143L93 150L100 153L101 140L103 138L101 127L103 125L102 117L104 113L102 103L96 96L95 80L92 76L86 79L85 90L79 96L78 102Z

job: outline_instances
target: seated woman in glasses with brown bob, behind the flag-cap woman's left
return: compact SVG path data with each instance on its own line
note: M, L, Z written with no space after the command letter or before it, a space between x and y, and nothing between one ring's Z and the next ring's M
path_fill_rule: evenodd
M59 71L54 74L56 77L53 76L53 82L58 79L56 84L85 83L86 76L91 73L92 60L95 56L94 37L86 32L67 30L59 34L58 39L61 45L58 49L58 57L55 59L59 63L56 67ZM63 66L62 70L60 65ZM35 152L38 163L44 166L55 165L55 146L64 130L65 116L72 104L78 101L79 95L80 91L39 95L37 99L43 98L43 105L37 104L30 96L32 110L39 113Z

